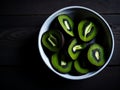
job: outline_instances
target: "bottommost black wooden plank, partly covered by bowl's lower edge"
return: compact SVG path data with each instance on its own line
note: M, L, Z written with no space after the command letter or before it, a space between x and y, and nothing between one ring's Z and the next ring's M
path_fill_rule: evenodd
M5 68L3 68L5 69ZM107 67L101 73L86 80L66 80L47 68L6 68L0 72L0 83L4 89L34 90L104 90L120 89L120 67Z

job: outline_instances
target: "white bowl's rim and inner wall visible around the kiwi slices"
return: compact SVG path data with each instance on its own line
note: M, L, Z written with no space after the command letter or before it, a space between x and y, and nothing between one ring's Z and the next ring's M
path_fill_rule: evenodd
M56 19L56 17L58 15L61 15L61 14L67 14L70 17L74 18L74 22L76 24L78 24L78 22L80 22L82 19L90 19L96 23L96 25L99 28L99 31L98 31L99 34L96 38L96 42L100 43L103 46L103 48L105 49L105 59L106 59L106 63L100 69L93 71L93 72L89 72L84 75L73 76L70 74L59 73L52 67L50 60L43 49L41 39L42 39L43 33L45 33L46 31L49 30L53 21ZM67 78L67 79L85 79L85 78L94 76L97 73L99 73L110 61L111 56L112 56L113 46L114 46L113 35L112 35L112 31L111 31L108 23L98 13L96 13L95 11L93 11L91 9L85 8L85 7L68 7L68 8L63 8L63 9L55 12L50 17L48 17L48 19L45 21L45 23L41 27L40 33L39 33L39 38L38 38L39 51L40 51L41 57L42 57L43 61L45 62L45 64L53 72L55 72L59 76Z

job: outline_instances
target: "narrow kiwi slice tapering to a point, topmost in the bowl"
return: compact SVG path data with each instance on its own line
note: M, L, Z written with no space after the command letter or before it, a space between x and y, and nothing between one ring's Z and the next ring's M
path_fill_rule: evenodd
M70 36L74 36L73 33L74 23L73 20L68 15L65 14L59 15L58 21L67 34L69 34Z

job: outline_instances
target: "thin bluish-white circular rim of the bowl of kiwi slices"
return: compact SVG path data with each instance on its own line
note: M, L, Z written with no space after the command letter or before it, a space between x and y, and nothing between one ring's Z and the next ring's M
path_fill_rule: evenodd
M110 31L110 36L111 36L111 41L112 41L112 50L111 50L111 53L110 53L110 56L108 58L108 60L106 61L106 63L100 68L98 69L97 71L95 72L89 72L85 75L82 75L82 76L71 76L69 74L62 74L62 73L59 73L58 71L56 71L51 65L50 63L47 61L48 58L45 56L43 56L43 49L42 49L42 45L41 45L41 37L42 37L42 34L41 32L43 33L44 31L42 30L45 30L46 27L48 27L49 25L47 25L47 22L50 21L51 19L54 19L55 16L58 16L59 13L65 11L65 10L68 10L68 9L83 9L83 10L87 10L87 11L90 11L91 13L97 15L107 26L108 30ZM52 22L52 21L51 21ZM46 27L45 27L46 26ZM113 52L114 52L114 44L115 44L115 41L114 41L114 35L113 35L113 32L112 32L112 29L111 27L109 26L108 22L99 14L97 13L96 11L90 9L90 8L87 8L87 7L83 7L83 6L67 6L67 7L64 7L62 9L59 9L57 10L56 12L54 12L53 14L51 14L46 20L45 22L43 23L43 25L41 26L40 28L40 31L39 31L39 35L38 35L38 49L39 49L39 53L42 57L42 60L44 61L44 63L48 66L49 69L51 69L54 73L56 73L57 75L63 77L63 78L66 78L66 79L70 79L70 80L82 80L82 79L87 79L87 78L90 78L90 77L93 77L94 75L98 74L99 72L101 72L107 65L108 63L110 62L111 58L112 58L112 55L113 55Z

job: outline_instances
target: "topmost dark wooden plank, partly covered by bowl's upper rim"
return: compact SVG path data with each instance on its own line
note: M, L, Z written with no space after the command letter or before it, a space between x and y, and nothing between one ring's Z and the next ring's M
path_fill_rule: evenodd
M1 0L0 15L51 14L66 6L85 6L100 13L120 13L119 0Z

